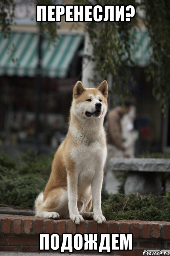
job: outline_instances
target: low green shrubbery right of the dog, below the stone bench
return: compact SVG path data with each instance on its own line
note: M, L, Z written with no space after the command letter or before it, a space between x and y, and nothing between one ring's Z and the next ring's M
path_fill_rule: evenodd
M102 202L102 211L107 220L170 221L169 196L143 196L139 193L110 195Z

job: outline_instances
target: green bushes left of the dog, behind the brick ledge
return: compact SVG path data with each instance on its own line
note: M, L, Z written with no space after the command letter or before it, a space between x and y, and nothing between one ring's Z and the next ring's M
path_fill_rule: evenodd
M29 150L22 155L22 164L0 153L1 204L18 208L33 207L36 196L45 188L51 169L52 155L44 156Z

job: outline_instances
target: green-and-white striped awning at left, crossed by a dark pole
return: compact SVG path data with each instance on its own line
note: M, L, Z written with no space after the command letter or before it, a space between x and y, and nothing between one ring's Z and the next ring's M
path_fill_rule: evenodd
M54 45L42 44L42 75L66 77L82 40L81 35L60 35ZM0 75L33 77L37 73L38 35L12 32L8 38L0 33Z

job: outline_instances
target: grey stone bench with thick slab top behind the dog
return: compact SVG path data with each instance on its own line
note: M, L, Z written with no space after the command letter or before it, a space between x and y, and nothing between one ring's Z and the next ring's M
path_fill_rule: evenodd
M170 159L162 158L111 158L109 168L113 171L128 171L124 192L160 195L163 187L158 173L170 173ZM170 191L170 175L165 184Z

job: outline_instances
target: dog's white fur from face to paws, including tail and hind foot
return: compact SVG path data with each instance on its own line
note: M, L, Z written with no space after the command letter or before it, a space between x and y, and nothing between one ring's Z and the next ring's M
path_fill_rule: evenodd
M105 132L103 127L107 106L101 101L101 114L98 117L86 116L86 111L94 112L95 104L100 102L101 95L89 94L92 101L76 104L72 101L69 132L77 146L71 147L70 155L75 163L74 179L67 175L67 189L62 189L59 204L56 208L45 211L48 198L43 200L43 193L36 198L36 215L44 218L68 218L80 224L83 217L93 217L99 224L105 221L101 210L101 188L104 163L107 157ZM73 121L78 118L80 127ZM73 184L74 182L74 184ZM93 213L86 212L87 205L93 197Z

